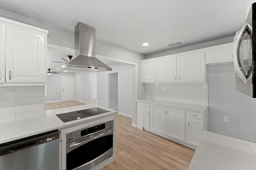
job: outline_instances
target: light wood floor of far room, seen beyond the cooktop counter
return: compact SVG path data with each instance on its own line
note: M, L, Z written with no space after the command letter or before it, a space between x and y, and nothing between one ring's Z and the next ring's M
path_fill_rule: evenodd
M84 105L84 104L85 103L78 102L75 100L64 101L64 102L52 102L52 103L46 103L45 109L46 110L60 109L60 108L64 108L64 107L79 106L79 105Z

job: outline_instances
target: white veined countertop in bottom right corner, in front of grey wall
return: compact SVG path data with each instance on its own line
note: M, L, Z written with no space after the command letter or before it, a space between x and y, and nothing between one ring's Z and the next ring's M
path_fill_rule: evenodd
M204 131L188 170L256 170L256 143Z

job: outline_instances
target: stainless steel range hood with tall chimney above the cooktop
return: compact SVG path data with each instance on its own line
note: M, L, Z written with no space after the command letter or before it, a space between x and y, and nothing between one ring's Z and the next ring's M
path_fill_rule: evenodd
M75 57L58 70L101 72L112 68L95 56L95 28L79 22L75 27Z

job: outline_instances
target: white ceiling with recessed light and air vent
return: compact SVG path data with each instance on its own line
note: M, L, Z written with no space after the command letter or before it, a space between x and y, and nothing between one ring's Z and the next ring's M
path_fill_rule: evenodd
M96 28L99 41L149 55L235 35L246 20L246 3L247 0L0 0L0 8L72 32L82 22ZM166 46L178 41L185 44ZM142 43L149 45L144 47Z

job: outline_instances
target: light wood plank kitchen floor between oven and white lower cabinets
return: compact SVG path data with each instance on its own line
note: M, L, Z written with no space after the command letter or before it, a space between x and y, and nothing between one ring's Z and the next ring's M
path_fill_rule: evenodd
M116 160L102 170L187 170L195 150L131 126L116 114Z

